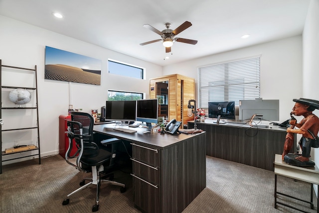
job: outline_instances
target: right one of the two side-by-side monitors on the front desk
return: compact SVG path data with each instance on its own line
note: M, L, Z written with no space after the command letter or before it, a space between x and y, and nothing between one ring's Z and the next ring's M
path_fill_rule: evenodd
M158 108L158 99L138 100L136 120L146 122L146 125L151 127L152 123L158 123Z

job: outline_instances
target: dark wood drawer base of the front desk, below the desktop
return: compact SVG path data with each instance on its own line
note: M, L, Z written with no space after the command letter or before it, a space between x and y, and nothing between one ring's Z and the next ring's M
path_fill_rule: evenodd
M132 147L136 207L147 213L181 213L206 187L205 134L160 149L158 153L143 146ZM154 164L160 165L158 170L149 167Z

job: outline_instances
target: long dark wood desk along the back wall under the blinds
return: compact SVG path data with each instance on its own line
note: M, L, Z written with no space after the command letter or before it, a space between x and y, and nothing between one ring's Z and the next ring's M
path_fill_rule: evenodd
M214 121L196 123L198 129L206 131L206 155L274 171L274 156L284 151L287 128L256 128ZM194 121L188 121L187 127L193 128ZM292 152L296 152L296 136Z

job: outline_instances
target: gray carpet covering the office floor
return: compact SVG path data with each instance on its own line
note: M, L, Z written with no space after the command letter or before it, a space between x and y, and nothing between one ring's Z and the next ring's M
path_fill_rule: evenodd
M207 188L183 213L298 213L293 209L274 208L274 179L271 171L206 157ZM1 213L90 213L95 203L95 188L90 187L70 198L62 206L65 196L79 187L82 177L89 176L75 170L59 156L30 160L3 166L0 175ZM132 177L129 171L119 171L115 180L127 184L120 193L118 186L102 185L99 212L139 213L134 208ZM278 177L278 191L310 200L310 184ZM309 204L278 196L279 201L305 211L317 212Z

